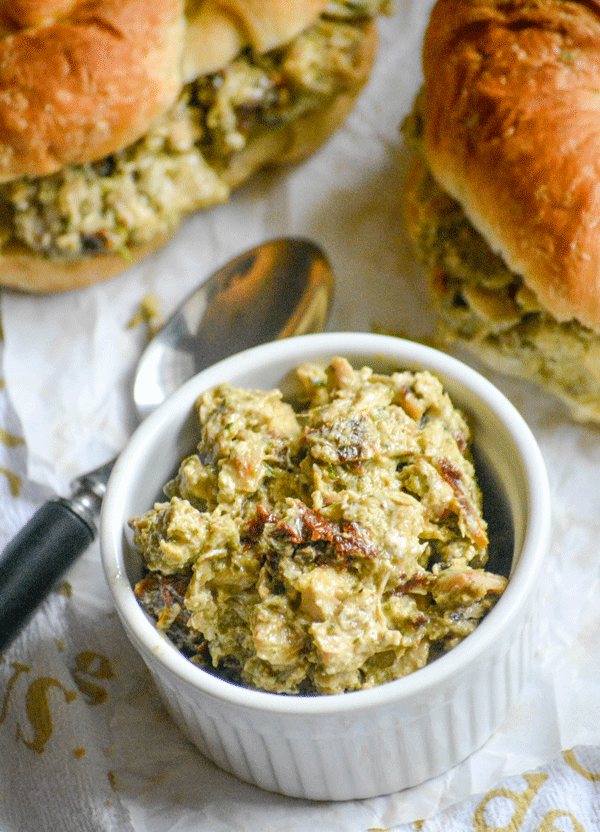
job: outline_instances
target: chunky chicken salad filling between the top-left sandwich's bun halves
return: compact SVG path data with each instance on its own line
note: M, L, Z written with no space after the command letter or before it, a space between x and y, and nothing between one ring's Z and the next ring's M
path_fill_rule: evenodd
M315 25L265 55L247 50L186 85L139 141L104 159L0 186L0 246L58 260L122 252L225 202L236 154L355 85L365 23L388 0L332 0Z

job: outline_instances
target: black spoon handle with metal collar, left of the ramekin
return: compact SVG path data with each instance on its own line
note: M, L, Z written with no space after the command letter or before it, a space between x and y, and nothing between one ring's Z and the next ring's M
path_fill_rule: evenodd
M0 555L0 653L96 537L113 464L77 480L72 497L44 503Z

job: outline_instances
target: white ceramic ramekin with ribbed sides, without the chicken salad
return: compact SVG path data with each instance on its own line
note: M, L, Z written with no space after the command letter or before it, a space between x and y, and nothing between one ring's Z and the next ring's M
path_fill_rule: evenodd
M140 576L127 520L152 506L195 446L192 406L205 389L289 391L305 360L429 369L470 417L484 508L510 580L494 609L452 651L377 688L337 696L278 696L236 687L191 664L161 635L132 591ZM388 794L447 771L479 748L518 698L536 640L537 588L549 542L544 463L527 424L486 379L420 344L367 333L305 335L225 359L185 384L138 428L104 498L102 558L123 625L175 722L221 768L302 798ZM491 568L491 565L488 565Z

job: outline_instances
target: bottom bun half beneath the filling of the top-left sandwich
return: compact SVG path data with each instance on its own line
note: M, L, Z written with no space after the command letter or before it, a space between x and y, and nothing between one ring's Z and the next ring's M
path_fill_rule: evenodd
M365 26L352 82L345 84L324 104L303 113L281 127L258 131L233 155L219 177L229 191L242 185L261 169L292 165L310 156L338 130L350 114L369 80L377 54L374 22ZM218 200L215 200L215 204ZM208 206L210 207L210 206ZM125 253L94 254L77 260L44 256L24 244L11 242L0 253L0 286L20 292L44 294L82 289L115 277L163 246L178 230L187 214L172 229L143 245L132 245ZM1 231L1 229L0 229Z

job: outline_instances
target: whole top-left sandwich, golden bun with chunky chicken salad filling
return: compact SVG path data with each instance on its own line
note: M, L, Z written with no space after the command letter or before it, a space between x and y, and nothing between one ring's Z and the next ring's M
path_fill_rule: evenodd
M127 269L337 129L387 0L0 2L0 285Z

